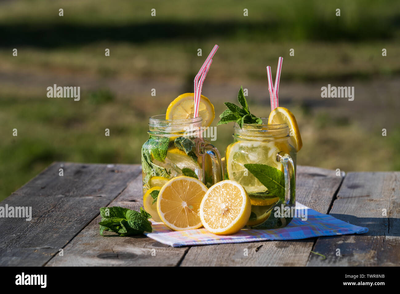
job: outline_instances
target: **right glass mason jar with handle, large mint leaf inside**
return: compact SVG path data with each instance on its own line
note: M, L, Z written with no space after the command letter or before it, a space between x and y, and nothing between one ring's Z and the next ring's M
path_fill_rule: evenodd
M296 150L287 124L235 123L234 142L226 147L226 176L242 184L252 213L247 226L286 226L296 205Z

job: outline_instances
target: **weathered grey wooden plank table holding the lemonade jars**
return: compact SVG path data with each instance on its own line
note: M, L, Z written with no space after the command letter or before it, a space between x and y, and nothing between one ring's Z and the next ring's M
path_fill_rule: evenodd
M0 203L32 206L31 221L0 218L0 265L399 266L400 172L336 174L298 166L297 200L367 234L172 248L146 236L99 234L100 207L142 206L140 165L55 162Z

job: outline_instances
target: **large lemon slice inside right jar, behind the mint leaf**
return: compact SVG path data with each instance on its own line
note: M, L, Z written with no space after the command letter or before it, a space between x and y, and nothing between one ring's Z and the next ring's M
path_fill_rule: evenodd
M274 142L238 141L226 151L229 179L242 184L248 193L264 192L267 188L244 167L244 164L266 164L283 172L282 164L276 161L276 154L280 150Z

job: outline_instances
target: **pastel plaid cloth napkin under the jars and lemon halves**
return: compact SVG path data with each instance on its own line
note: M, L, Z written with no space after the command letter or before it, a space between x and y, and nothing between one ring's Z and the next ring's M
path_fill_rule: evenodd
M354 226L338 220L328 214L322 214L296 202L298 217L284 228L272 230L243 229L229 236L218 236L201 228L175 232L161 222L152 222L153 232L144 232L146 236L172 247L187 245L243 243L264 240L294 240L320 236L335 236L346 234L364 234L368 228ZM305 212L307 219L302 220L300 210ZM304 214L302 215L304 216Z

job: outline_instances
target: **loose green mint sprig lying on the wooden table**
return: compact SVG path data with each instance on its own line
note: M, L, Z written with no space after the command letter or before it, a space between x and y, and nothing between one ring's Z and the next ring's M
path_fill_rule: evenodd
M140 212L123 207L102 207L100 225L100 235L104 231L116 232L120 236L134 236L143 234L144 231L152 232L151 222L148 220L152 216L143 208Z

